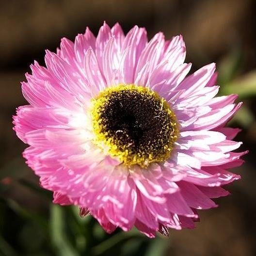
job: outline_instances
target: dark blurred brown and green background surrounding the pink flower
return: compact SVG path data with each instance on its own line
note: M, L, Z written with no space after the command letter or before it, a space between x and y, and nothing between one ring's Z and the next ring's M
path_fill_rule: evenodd
M256 255L256 1L255 0L0 0L0 256L255 256ZM240 181L219 208L201 211L194 230L172 230L149 240L136 230L105 234L74 207L51 203L51 193L25 165L25 148L12 130L16 107L25 105L20 81L33 60L44 64L62 37L85 27L97 34L106 20L125 32L135 24L150 38L182 34L193 70L216 62L220 95L244 102L230 126L250 153L235 170Z

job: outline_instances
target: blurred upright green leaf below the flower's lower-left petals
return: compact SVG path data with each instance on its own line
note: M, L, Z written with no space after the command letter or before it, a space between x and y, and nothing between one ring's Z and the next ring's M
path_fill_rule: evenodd
M50 236L53 246L60 256L79 256L67 238L65 229L64 209L59 205L51 206Z

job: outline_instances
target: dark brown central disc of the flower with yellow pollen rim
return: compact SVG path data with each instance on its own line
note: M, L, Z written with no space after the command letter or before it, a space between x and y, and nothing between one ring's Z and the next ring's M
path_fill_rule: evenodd
M96 144L127 165L166 160L177 139L176 116L165 99L133 84L107 88L93 100Z

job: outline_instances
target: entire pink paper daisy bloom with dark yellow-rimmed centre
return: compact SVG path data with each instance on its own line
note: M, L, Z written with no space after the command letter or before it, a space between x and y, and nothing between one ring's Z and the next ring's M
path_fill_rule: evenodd
M240 176L225 125L241 103L218 96L215 64L188 75L182 36L150 41L137 26L124 35L106 23L75 42L63 38L26 74L29 105L14 116L24 158L53 202L76 205L109 233L133 226L148 237L193 228L197 209Z

